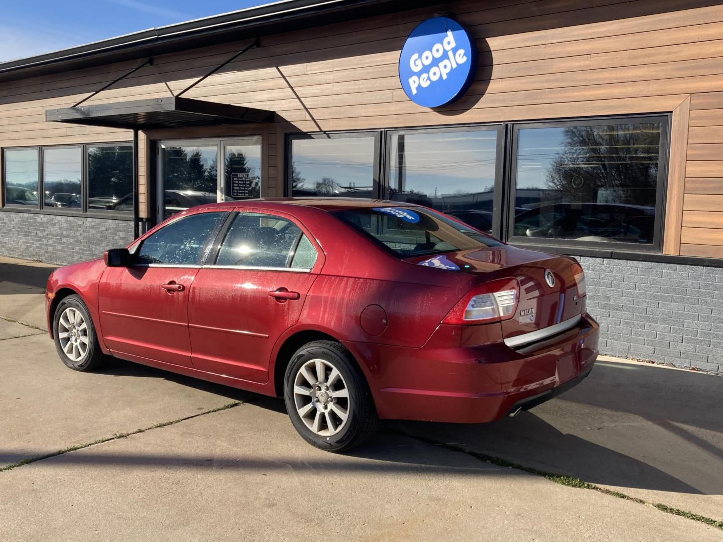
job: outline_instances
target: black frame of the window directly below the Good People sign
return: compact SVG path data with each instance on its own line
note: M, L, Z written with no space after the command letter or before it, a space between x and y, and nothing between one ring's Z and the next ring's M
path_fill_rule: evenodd
M463 126L442 126L440 128L402 129L384 131L384 182L382 183L382 199L390 199L391 186L391 145L392 137L395 135L416 135L416 134L450 134L458 132L497 132L495 138L495 179L492 192L492 237L500 239L502 233L502 186L504 184L504 163L505 163L505 124L479 124ZM400 202L403 207L404 202ZM440 211L442 212L442 211Z

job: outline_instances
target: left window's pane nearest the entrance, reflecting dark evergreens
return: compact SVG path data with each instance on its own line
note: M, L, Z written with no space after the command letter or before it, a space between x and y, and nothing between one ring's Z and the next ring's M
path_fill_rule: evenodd
M88 211L133 212L133 147L89 145Z

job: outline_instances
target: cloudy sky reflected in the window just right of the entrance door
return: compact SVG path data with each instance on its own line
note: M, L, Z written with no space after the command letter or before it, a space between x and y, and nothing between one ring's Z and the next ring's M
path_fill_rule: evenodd
M298 188L313 189L323 177L333 178L343 188L372 186L373 137L293 139L292 162L305 179Z

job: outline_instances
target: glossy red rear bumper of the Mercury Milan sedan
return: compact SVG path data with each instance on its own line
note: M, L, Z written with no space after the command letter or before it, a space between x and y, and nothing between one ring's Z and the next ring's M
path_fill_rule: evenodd
M581 382L599 353L588 314L524 348L348 345L364 361L380 418L479 423L531 408ZM429 344L429 343L427 343Z

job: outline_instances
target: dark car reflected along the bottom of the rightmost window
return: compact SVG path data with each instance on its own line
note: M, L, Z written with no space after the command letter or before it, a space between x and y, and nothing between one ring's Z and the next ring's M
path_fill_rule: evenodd
M514 235L578 241L652 243L655 207L609 203L557 203L521 212Z

